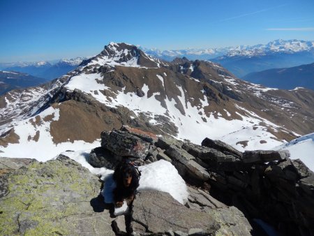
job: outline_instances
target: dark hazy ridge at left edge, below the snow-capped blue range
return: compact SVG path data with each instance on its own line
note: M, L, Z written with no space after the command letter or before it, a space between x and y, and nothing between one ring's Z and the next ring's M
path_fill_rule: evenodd
M0 71L0 95L13 89L37 86L45 82L47 82L47 80L44 78L38 78L26 73Z

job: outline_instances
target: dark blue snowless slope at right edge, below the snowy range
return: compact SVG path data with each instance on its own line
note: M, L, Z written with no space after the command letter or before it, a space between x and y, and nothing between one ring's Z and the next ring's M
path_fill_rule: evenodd
M270 69L249 73L243 78L246 81L279 89L305 87L314 90L314 63L291 68Z

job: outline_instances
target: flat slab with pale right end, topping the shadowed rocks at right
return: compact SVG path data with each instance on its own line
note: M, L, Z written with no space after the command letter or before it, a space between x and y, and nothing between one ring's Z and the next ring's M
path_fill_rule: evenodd
M281 161L290 157L290 152L282 151L246 151L243 154L244 163L265 163L269 161Z

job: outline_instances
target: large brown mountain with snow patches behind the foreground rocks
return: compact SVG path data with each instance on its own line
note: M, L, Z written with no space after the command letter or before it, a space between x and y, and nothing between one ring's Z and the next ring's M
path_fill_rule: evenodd
M170 63L110 43L50 84L1 96L0 149L24 157L45 149L51 158L94 147L100 131L122 124L198 144L209 137L269 149L313 130L313 104L311 90L269 89L208 61Z

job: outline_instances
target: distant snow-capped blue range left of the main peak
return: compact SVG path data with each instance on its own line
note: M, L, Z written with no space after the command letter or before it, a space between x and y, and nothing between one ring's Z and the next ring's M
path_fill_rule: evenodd
M59 78L69 71L73 71L83 60L83 57L77 57L74 59L61 59L56 64L51 64L48 61L3 63L0 64L0 69L4 71L27 73L36 77L52 80Z

